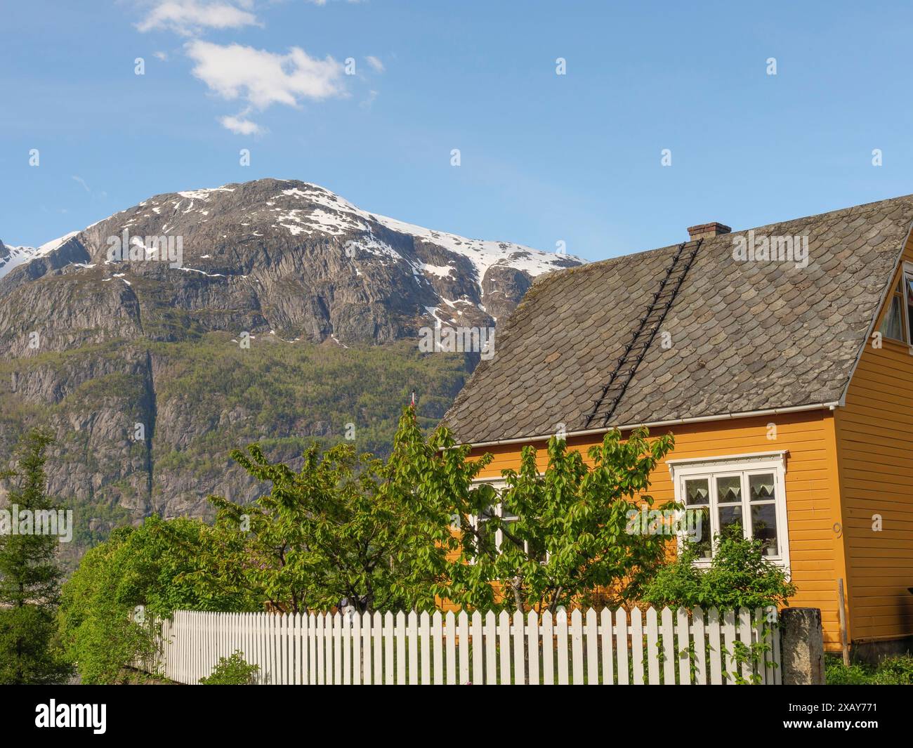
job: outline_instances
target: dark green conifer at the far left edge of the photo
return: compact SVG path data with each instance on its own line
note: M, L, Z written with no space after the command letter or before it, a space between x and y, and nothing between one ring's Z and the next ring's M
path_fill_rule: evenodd
M40 513L61 507L47 495L45 463L53 438L34 429L23 442L14 471L9 505L16 506L20 527L0 528L0 683L58 683L71 672L55 640L55 611L62 572L57 563L58 535L38 532ZM32 529L21 526L30 517Z

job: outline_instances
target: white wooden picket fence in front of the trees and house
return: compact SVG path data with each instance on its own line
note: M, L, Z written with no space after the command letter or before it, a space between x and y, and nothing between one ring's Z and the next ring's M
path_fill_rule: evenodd
M336 614L176 611L162 622L157 661L141 667L181 683L210 675L236 650L277 684L780 683L776 609L719 613L593 609L571 616L506 612ZM570 620L569 620L570 617ZM736 642L770 647L737 665Z

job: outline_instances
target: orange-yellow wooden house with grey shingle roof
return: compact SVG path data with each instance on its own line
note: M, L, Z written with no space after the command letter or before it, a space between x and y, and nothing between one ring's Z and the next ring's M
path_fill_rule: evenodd
M446 422L485 477L526 444L671 432L659 503L739 523L860 655L913 637L913 195L541 277ZM712 543L704 551L713 553ZM839 586L844 588L843 615Z

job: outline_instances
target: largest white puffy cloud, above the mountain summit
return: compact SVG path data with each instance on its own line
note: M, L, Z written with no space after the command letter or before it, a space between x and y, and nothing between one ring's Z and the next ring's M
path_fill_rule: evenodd
M265 49L226 46L195 39L186 45L193 73L223 99L241 99L264 110L272 104L298 106L299 99L345 96L341 63L312 58L300 47L280 55Z

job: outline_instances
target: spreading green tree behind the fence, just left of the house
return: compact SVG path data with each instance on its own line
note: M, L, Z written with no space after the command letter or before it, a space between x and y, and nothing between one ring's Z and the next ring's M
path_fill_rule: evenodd
M299 470L271 462L257 444L231 456L272 488L247 505L209 497L218 510L216 532L245 539L242 574L270 607L434 607L428 522L421 507L385 485L383 461L350 444L323 454L311 445Z

